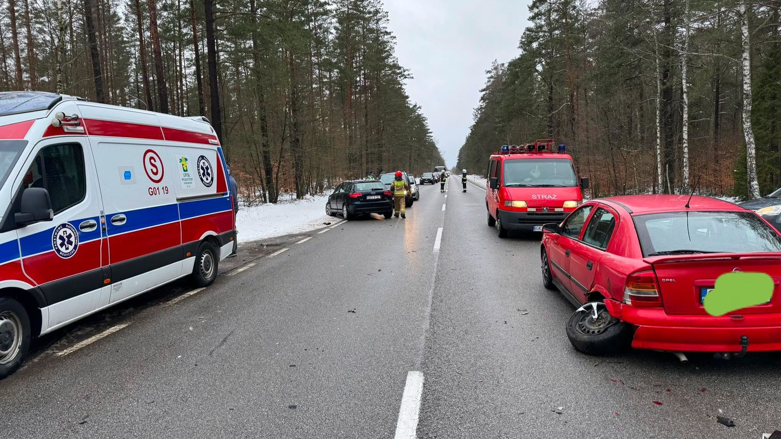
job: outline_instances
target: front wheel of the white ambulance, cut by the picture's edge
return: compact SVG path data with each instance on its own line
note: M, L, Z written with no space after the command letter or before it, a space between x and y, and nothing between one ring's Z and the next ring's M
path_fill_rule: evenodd
M30 349L30 317L22 304L0 298L0 379L22 364Z

